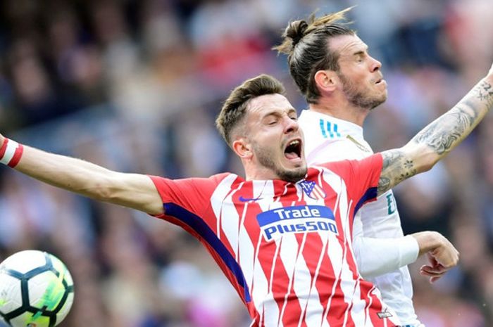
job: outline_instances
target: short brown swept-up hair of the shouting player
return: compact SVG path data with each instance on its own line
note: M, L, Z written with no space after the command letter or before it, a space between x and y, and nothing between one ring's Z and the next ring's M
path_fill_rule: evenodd
M248 79L232 90L216 119L216 127L226 143L231 146L232 130L243 119L246 106L252 98L266 94L285 95L285 93L285 88L281 82L265 74Z

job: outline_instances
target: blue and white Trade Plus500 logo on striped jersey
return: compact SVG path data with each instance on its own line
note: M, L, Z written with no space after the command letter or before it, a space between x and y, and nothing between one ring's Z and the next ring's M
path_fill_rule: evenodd
M323 205L280 207L258 214L257 221L267 241L283 233L330 231L337 234L334 214Z

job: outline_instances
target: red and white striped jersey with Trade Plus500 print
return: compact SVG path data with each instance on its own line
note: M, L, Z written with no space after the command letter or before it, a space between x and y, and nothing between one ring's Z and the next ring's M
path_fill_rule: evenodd
M352 222L374 200L381 155L308 169L296 184L151 177L166 219L211 253L254 320L251 326L396 326L379 291L358 275Z

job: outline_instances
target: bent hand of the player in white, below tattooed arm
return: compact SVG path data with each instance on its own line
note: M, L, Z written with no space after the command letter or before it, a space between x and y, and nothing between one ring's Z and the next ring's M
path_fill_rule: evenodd
M442 234L423 231L413 236L418 241L420 255L426 253L430 261L430 264L420 268L420 274L430 276L430 283L434 283L457 265L459 253Z

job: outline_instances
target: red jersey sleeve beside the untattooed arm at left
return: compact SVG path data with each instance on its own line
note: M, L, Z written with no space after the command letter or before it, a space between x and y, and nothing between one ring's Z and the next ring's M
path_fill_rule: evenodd
M165 212L157 218L166 219L166 207L175 205L201 217L211 201L216 186L225 177L219 174L209 178L167 179L149 176L163 201Z

